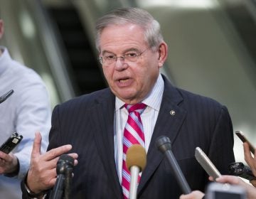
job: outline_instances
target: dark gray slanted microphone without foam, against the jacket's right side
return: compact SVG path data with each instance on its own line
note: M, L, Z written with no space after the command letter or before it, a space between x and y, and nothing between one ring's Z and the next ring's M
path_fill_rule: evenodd
M174 157L174 154L171 151L171 141L169 137L160 136L156 140L156 147L159 149L159 151L165 154L166 158L168 159L171 168L174 170L176 180L178 181L178 184L181 186L181 189L183 190L183 193L191 193L191 188L189 187L186 178L183 176L181 168L178 166L176 158Z

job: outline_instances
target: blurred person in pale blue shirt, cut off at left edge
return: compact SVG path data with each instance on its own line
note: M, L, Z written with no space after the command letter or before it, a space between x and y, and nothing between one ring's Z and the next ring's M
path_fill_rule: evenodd
M0 18L0 40L3 35L4 21ZM10 154L0 151L0 198L18 199L36 131L41 131L41 150L46 151L50 100L41 77L13 60L7 48L0 45L0 95L9 90L14 90L14 94L0 104L0 145L14 132L23 139Z

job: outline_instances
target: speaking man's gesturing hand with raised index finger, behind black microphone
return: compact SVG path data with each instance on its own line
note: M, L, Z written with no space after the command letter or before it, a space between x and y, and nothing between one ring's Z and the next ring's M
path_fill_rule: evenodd
M33 193L40 193L47 190L55 184L57 173L56 165L60 155L67 153L72 149L70 144L60 146L41 154L41 134L36 133L33 149L31 153L31 165L28 170L26 185ZM75 165L78 164L76 158L78 154L68 154L75 158Z

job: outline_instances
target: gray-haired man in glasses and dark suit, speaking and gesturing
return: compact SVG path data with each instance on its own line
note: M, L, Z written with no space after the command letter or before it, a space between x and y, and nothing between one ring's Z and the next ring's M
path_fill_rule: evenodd
M58 105L53 110L48 152L40 154L36 134L31 168L22 183L28 193L43 195L56 181L58 156L76 159L71 198L124 198L122 139L128 113L124 104L143 102L146 168L138 198L178 198L173 171L154 143L169 136L172 151L192 190L204 190L208 176L196 162L196 146L227 173L234 161L233 127L228 110L213 99L178 89L161 75L168 46L160 26L142 9L117 9L97 21L96 45L110 88ZM72 149L71 149L71 146ZM42 193L42 194L41 194Z

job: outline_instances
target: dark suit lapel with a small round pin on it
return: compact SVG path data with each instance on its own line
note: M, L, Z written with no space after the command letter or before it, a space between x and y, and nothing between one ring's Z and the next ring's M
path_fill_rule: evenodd
M144 185L147 181L149 181L152 174L164 158L164 155L161 154L158 149L156 149L156 139L158 139L159 136L168 136L169 139L171 139L171 143L174 144L178 130L186 117L186 111L181 109L181 107L178 107L178 104L183 101L183 97L181 97L179 92L173 86L171 86L165 77L164 82L164 95L161 102L161 108L149 145L149 150L146 157L147 164L142 173L138 193L143 190Z

